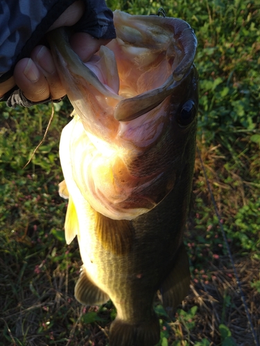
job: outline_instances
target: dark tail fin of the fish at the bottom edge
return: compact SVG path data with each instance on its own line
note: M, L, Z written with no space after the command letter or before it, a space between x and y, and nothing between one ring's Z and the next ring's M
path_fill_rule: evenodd
M110 346L155 346L159 338L159 320L155 314L138 325L116 318L110 326Z

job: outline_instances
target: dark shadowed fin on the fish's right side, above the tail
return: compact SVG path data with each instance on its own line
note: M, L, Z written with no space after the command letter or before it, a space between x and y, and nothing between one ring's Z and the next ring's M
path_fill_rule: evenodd
M166 311L171 312L182 302L189 291L190 280L189 258L182 243L175 256L173 269L160 289L162 304Z

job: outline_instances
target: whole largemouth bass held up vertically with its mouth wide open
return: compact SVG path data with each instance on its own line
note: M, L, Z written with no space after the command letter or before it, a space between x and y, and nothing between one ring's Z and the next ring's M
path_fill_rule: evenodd
M116 39L88 62L59 28L49 44L73 118L62 130L65 237L78 237L75 297L111 299L110 346L159 342L158 294L171 312L189 291L183 234L198 121L196 35L182 19L114 12Z

